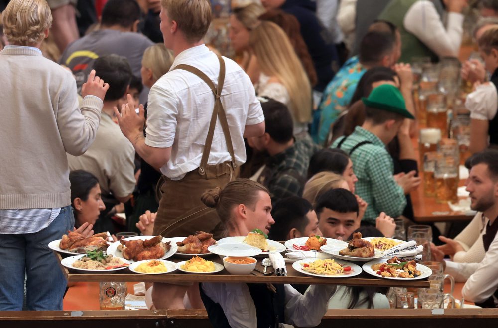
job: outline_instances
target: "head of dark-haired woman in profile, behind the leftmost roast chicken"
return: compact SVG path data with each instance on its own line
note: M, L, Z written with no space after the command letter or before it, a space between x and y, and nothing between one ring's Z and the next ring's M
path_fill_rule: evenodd
M93 174L83 170L70 172L69 181L75 228L90 232L99 219L100 212L106 209L99 181Z

